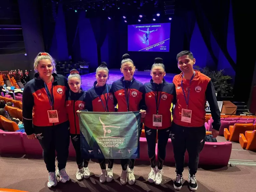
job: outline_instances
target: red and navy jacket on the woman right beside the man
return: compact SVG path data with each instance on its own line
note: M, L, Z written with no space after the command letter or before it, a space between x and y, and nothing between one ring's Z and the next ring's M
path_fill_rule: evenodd
M176 91L173 83L168 83L163 79L162 84L156 84L151 79L144 84L146 89L145 103L147 113L144 125L150 129L166 129L171 127L171 104L176 102ZM158 107L158 114L157 114ZM162 126L153 126L153 115L162 115Z

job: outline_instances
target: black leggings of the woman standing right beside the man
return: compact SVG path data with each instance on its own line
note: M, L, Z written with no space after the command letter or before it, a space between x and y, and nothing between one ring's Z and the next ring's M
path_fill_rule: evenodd
M168 138L170 135L171 127L168 127L166 129L150 129L146 126L145 127L145 135L148 143L148 156L150 159L151 167L156 167L156 133L158 134L158 142L157 142L157 148L158 148L158 169L163 168L165 154L166 154L166 145L168 142Z

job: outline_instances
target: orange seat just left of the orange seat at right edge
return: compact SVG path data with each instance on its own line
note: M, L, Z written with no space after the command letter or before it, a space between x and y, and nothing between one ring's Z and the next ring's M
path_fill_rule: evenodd
M236 123L234 126L229 126L224 129L224 137L229 141L239 142L239 134L245 134L245 131L253 131L253 124L239 124Z

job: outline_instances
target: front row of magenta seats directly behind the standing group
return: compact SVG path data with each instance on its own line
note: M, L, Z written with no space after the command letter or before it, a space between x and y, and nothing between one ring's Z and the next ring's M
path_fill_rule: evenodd
M205 142L204 148L200 153L200 165L218 165L227 166L231 155L231 142ZM168 140L166 146L165 162L175 163L173 156L173 147L171 139ZM21 132L4 132L0 130L0 154L27 154L42 155L42 148L37 139L31 140L27 138L26 133ZM156 144L156 157L157 157ZM75 149L70 140L69 156L75 157ZM140 158L138 160L148 161L148 150L146 138L140 137ZM185 162L188 162L188 153L185 153Z

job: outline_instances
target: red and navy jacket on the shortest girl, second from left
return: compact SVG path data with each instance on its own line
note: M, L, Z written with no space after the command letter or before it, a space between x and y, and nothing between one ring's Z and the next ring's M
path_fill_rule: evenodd
M80 93L74 93L69 90L66 94L66 110L70 124L70 134L80 134L79 119L76 113L77 110L85 109L86 91L81 88Z

